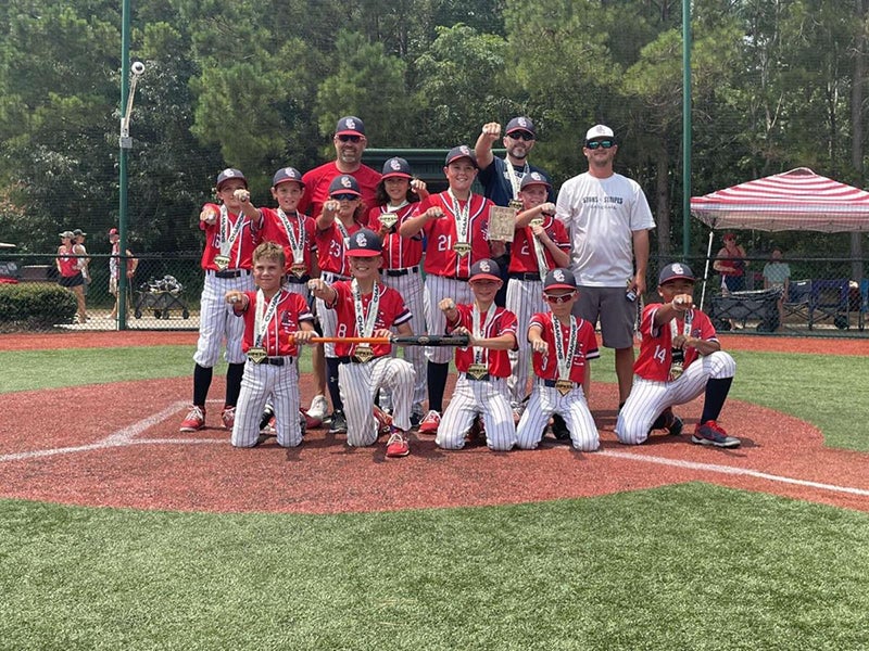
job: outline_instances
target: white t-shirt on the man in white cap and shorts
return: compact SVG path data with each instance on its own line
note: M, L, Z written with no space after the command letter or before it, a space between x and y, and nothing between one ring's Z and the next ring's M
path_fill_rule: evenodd
M588 171L565 181L555 217L570 233L570 268L581 285L624 288L633 276L633 231L655 228L640 184Z

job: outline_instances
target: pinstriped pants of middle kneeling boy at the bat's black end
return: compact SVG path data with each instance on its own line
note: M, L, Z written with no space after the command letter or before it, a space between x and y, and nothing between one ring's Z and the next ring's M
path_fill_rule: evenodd
M459 373L434 437L437 446L448 450L465 447L465 435L477 414L482 417L489 449L505 451L516 445L507 379L468 380L465 373Z

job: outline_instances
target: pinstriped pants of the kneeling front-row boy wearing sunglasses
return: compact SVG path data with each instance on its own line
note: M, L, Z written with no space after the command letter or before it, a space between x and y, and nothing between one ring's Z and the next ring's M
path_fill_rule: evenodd
M582 386L576 386L562 395L554 386L546 386L536 380L531 397L519 419L516 429L516 445L525 450L537 449L553 413L559 414L567 423L570 442L582 452L593 452L601 447L597 425L589 411Z

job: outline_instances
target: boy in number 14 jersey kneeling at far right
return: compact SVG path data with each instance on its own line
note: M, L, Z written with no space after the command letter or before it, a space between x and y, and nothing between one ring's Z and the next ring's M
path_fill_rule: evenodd
M694 307L693 293L694 275L688 265L673 263L660 270L658 294L664 304L643 310L633 387L616 422L621 443L641 444L657 427L680 434L682 421L670 408L705 394L691 441L725 448L740 445L718 424L736 362L721 350L711 321Z

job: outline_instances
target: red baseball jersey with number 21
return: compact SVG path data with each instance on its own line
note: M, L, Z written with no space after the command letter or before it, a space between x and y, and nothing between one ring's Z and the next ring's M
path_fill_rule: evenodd
M446 278L468 278L470 266L477 260L491 257L489 251L489 208L494 204L481 194L470 195L470 210L468 225L468 243L470 252L467 255L458 255L453 246L457 241L455 228L455 213L453 202L446 192L430 194L420 201L415 210L415 215L421 215L431 206L438 206L443 210L440 219L430 219L423 227L426 233L426 273L444 276ZM467 202L458 202L462 209Z

